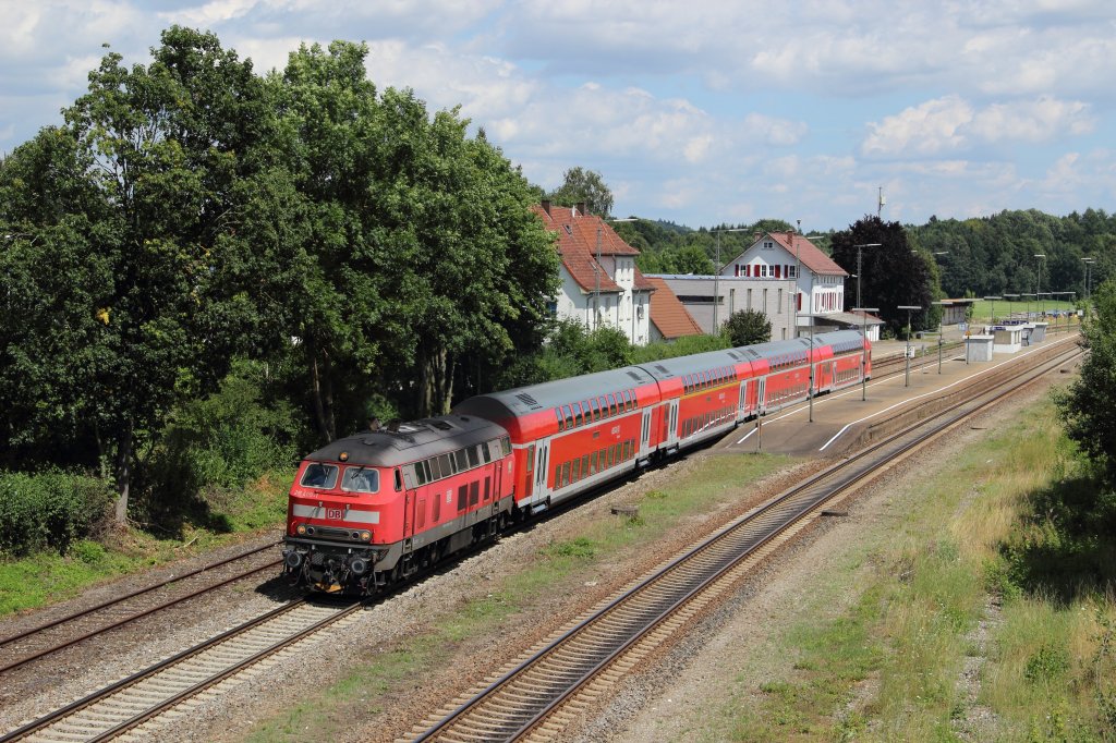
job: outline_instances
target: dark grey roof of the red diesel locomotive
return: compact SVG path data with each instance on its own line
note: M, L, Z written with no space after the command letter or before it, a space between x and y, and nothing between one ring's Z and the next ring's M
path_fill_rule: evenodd
M484 418L441 415L403 423L397 431L365 431L338 438L311 452L306 459L339 462L341 452L347 452L349 464L392 467L507 434L502 426Z

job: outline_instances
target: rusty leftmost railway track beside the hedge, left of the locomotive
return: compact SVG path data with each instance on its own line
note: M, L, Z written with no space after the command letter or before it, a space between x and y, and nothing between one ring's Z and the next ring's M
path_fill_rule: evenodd
M277 544L275 541L242 551L0 638L0 675L230 583L277 570L281 560L269 554Z

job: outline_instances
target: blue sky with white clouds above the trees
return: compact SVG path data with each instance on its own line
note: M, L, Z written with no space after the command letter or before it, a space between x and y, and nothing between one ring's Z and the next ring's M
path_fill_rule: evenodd
M551 189L600 172L617 215L843 228L1004 209L1116 211L1112 0L0 0L0 152L172 23L258 70L368 45Z

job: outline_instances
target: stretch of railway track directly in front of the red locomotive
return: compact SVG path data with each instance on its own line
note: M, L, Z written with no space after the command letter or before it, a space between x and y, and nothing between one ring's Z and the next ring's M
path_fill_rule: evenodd
M294 652L360 607L358 601L294 601L28 722L0 736L0 743L107 741L141 725L155 726L169 710L206 692L219 693L222 682Z

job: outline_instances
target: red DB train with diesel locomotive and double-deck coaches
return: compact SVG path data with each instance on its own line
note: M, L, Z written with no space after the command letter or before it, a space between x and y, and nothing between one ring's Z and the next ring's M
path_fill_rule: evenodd
M450 415L309 454L290 489L285 572L374 594L741 422L870 378L870 342L820 334L471 397Z

